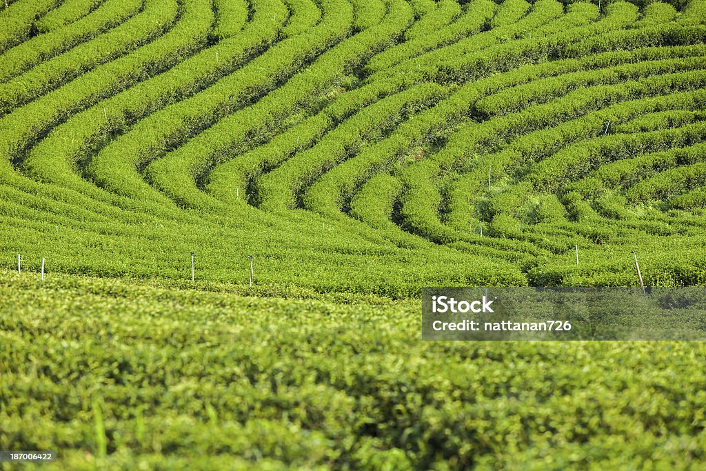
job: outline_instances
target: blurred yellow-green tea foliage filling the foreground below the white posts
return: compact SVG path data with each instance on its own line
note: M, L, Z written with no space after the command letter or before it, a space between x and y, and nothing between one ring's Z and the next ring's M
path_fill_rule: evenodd
M706 460L701 342L423 342L416 301L186 285L0 274L0 448L58 448L46 470Z

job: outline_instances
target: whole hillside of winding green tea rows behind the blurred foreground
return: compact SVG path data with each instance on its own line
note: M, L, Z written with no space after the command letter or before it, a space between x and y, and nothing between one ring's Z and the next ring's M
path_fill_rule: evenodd
M7 268L185 278L196 251L244 282L254 254L258 283L404 297L633 285L635 250L706 281L702 0L2 14Z

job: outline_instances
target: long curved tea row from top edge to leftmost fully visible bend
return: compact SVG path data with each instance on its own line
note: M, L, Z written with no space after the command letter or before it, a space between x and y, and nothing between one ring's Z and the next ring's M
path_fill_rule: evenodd
M267 49L276 40L281 23L273 23L272 16L279 13L285 18L286 7L280 0L256 1L254 4L257 6L255 16L241 34L75 114L30 151L24 167L47 180L63 181L64 184L76 182L70 162L86 162L91 151L100 150L112 136L131 129L140 119L181 99L203 93L201 90L208 89L209 84L228 80L229 73L238 71L253 55ZM59 145L66 133L71 133L75 139Z

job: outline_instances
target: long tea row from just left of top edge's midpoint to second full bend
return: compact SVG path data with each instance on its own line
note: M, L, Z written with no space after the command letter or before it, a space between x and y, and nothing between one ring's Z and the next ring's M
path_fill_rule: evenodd
M177 156L183 155L184 150L188 149L186 145L199 143L196 140L199 136L207 135L205 133L210 133L210 136L215 135L219 128L213 126L214 124L227 122L223 118L228 114L262 97L287 78L297 77L299 69L316 59L322 50L343 40L349 30L342 28L342 25L348 25L350 28L351 24L352 8L347 1L325 2L323 19L316 28L275 44L267 52L204 92L138 121L129 133L92 157L88 168L91 178L100 186L112 191L150 198L150 193L155 193L155 190L143 181L138 174L138 167L145 167L150 161L174 148L177 148ZM275 90L275 93L285 95L286 90L282 91L280 88ZM270 98L271 96L273 95L268 95L267 99L275 101ZM296 90L289 91L287 96L293 100L303 98ZM260 100L258 104L261 102L263 101ZM264 116L260 119L262 118ZM194 126L193 124L196 123L198 125ZM210 128L202 133L201 131L209 125ZM145 133L143 129L150 129L151 132ZM218 133L217 138L226 145L229 143L227 134ZM215 144L213 138L208 140L201 138L201 140L207 141L205 145ZM181 145L185 141L187 144ZM189 153L186 158L204 160L208 158L208 154ZM157 158L155 162L161 160L164 159ZM173 174L172 177L176 178L179 175ZM176 183L176 179L174 182Z

